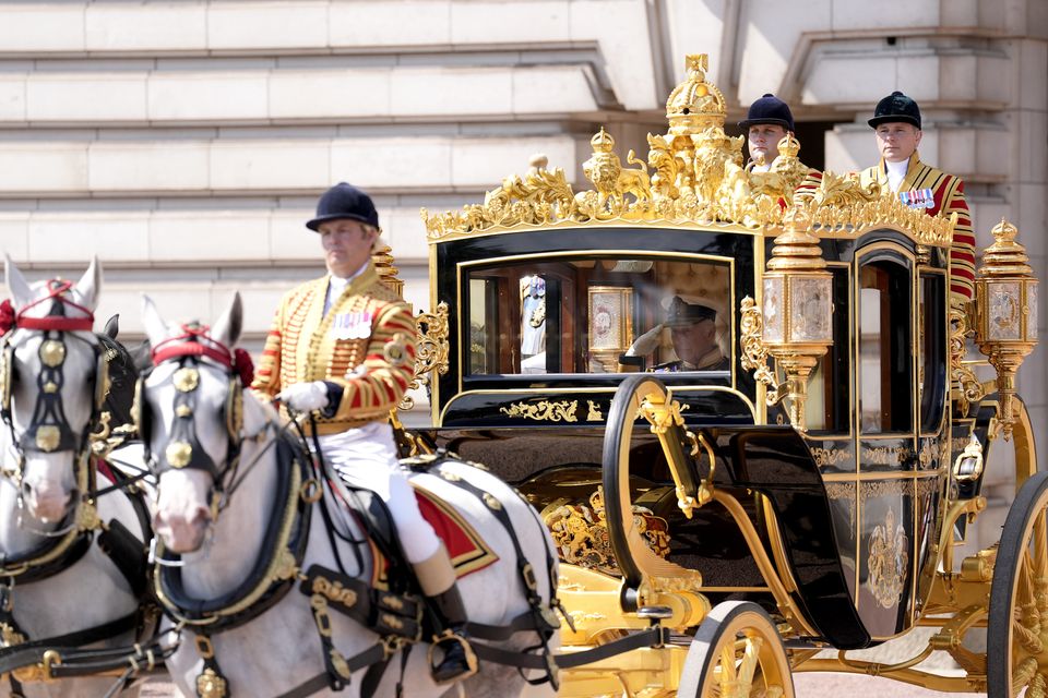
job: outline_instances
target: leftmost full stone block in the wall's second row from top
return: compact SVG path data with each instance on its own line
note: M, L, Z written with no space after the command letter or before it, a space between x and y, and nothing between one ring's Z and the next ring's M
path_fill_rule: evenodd
M145 121L142 73L34 73L26 82L29 121Z

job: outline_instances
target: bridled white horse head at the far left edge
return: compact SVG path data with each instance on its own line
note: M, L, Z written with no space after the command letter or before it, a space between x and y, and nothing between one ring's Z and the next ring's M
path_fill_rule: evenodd
M4 272L15 316L3 341L0 416L17 456L4 474L28 514L50 524L87 486L90 434L109 387L92 332L102 268L93 260L75 284L29 284L10 257Z

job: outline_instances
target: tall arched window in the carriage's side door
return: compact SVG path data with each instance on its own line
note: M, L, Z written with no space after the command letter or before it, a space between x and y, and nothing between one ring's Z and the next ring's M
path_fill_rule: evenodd
M859 385L865 433L910 431L909 269L890 261L859 272Z

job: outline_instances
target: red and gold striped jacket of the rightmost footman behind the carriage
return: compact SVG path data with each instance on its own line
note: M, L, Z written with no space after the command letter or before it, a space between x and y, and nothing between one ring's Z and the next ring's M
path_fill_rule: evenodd
M888 191L888 169L884 160L862 170L859 182L864 186L877 182L882 191ZM922 190L929 189L930 200L920 194ZM906 177L898 185L898 192L914 202L910 205L922 206L929 216L949 217L950 214L957 214L957 225L953 230L953 243L950 246L950 296L954 303L963 304L972 300L975 288L975 232L972 229L968 202L964 198L964 182L960 177L925 165L914 153L909 158Z

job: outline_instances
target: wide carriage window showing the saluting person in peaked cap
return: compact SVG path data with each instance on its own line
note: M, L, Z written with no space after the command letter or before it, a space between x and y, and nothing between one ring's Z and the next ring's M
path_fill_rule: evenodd
M727 262L544 257L466 277L472 375L730 369Z

